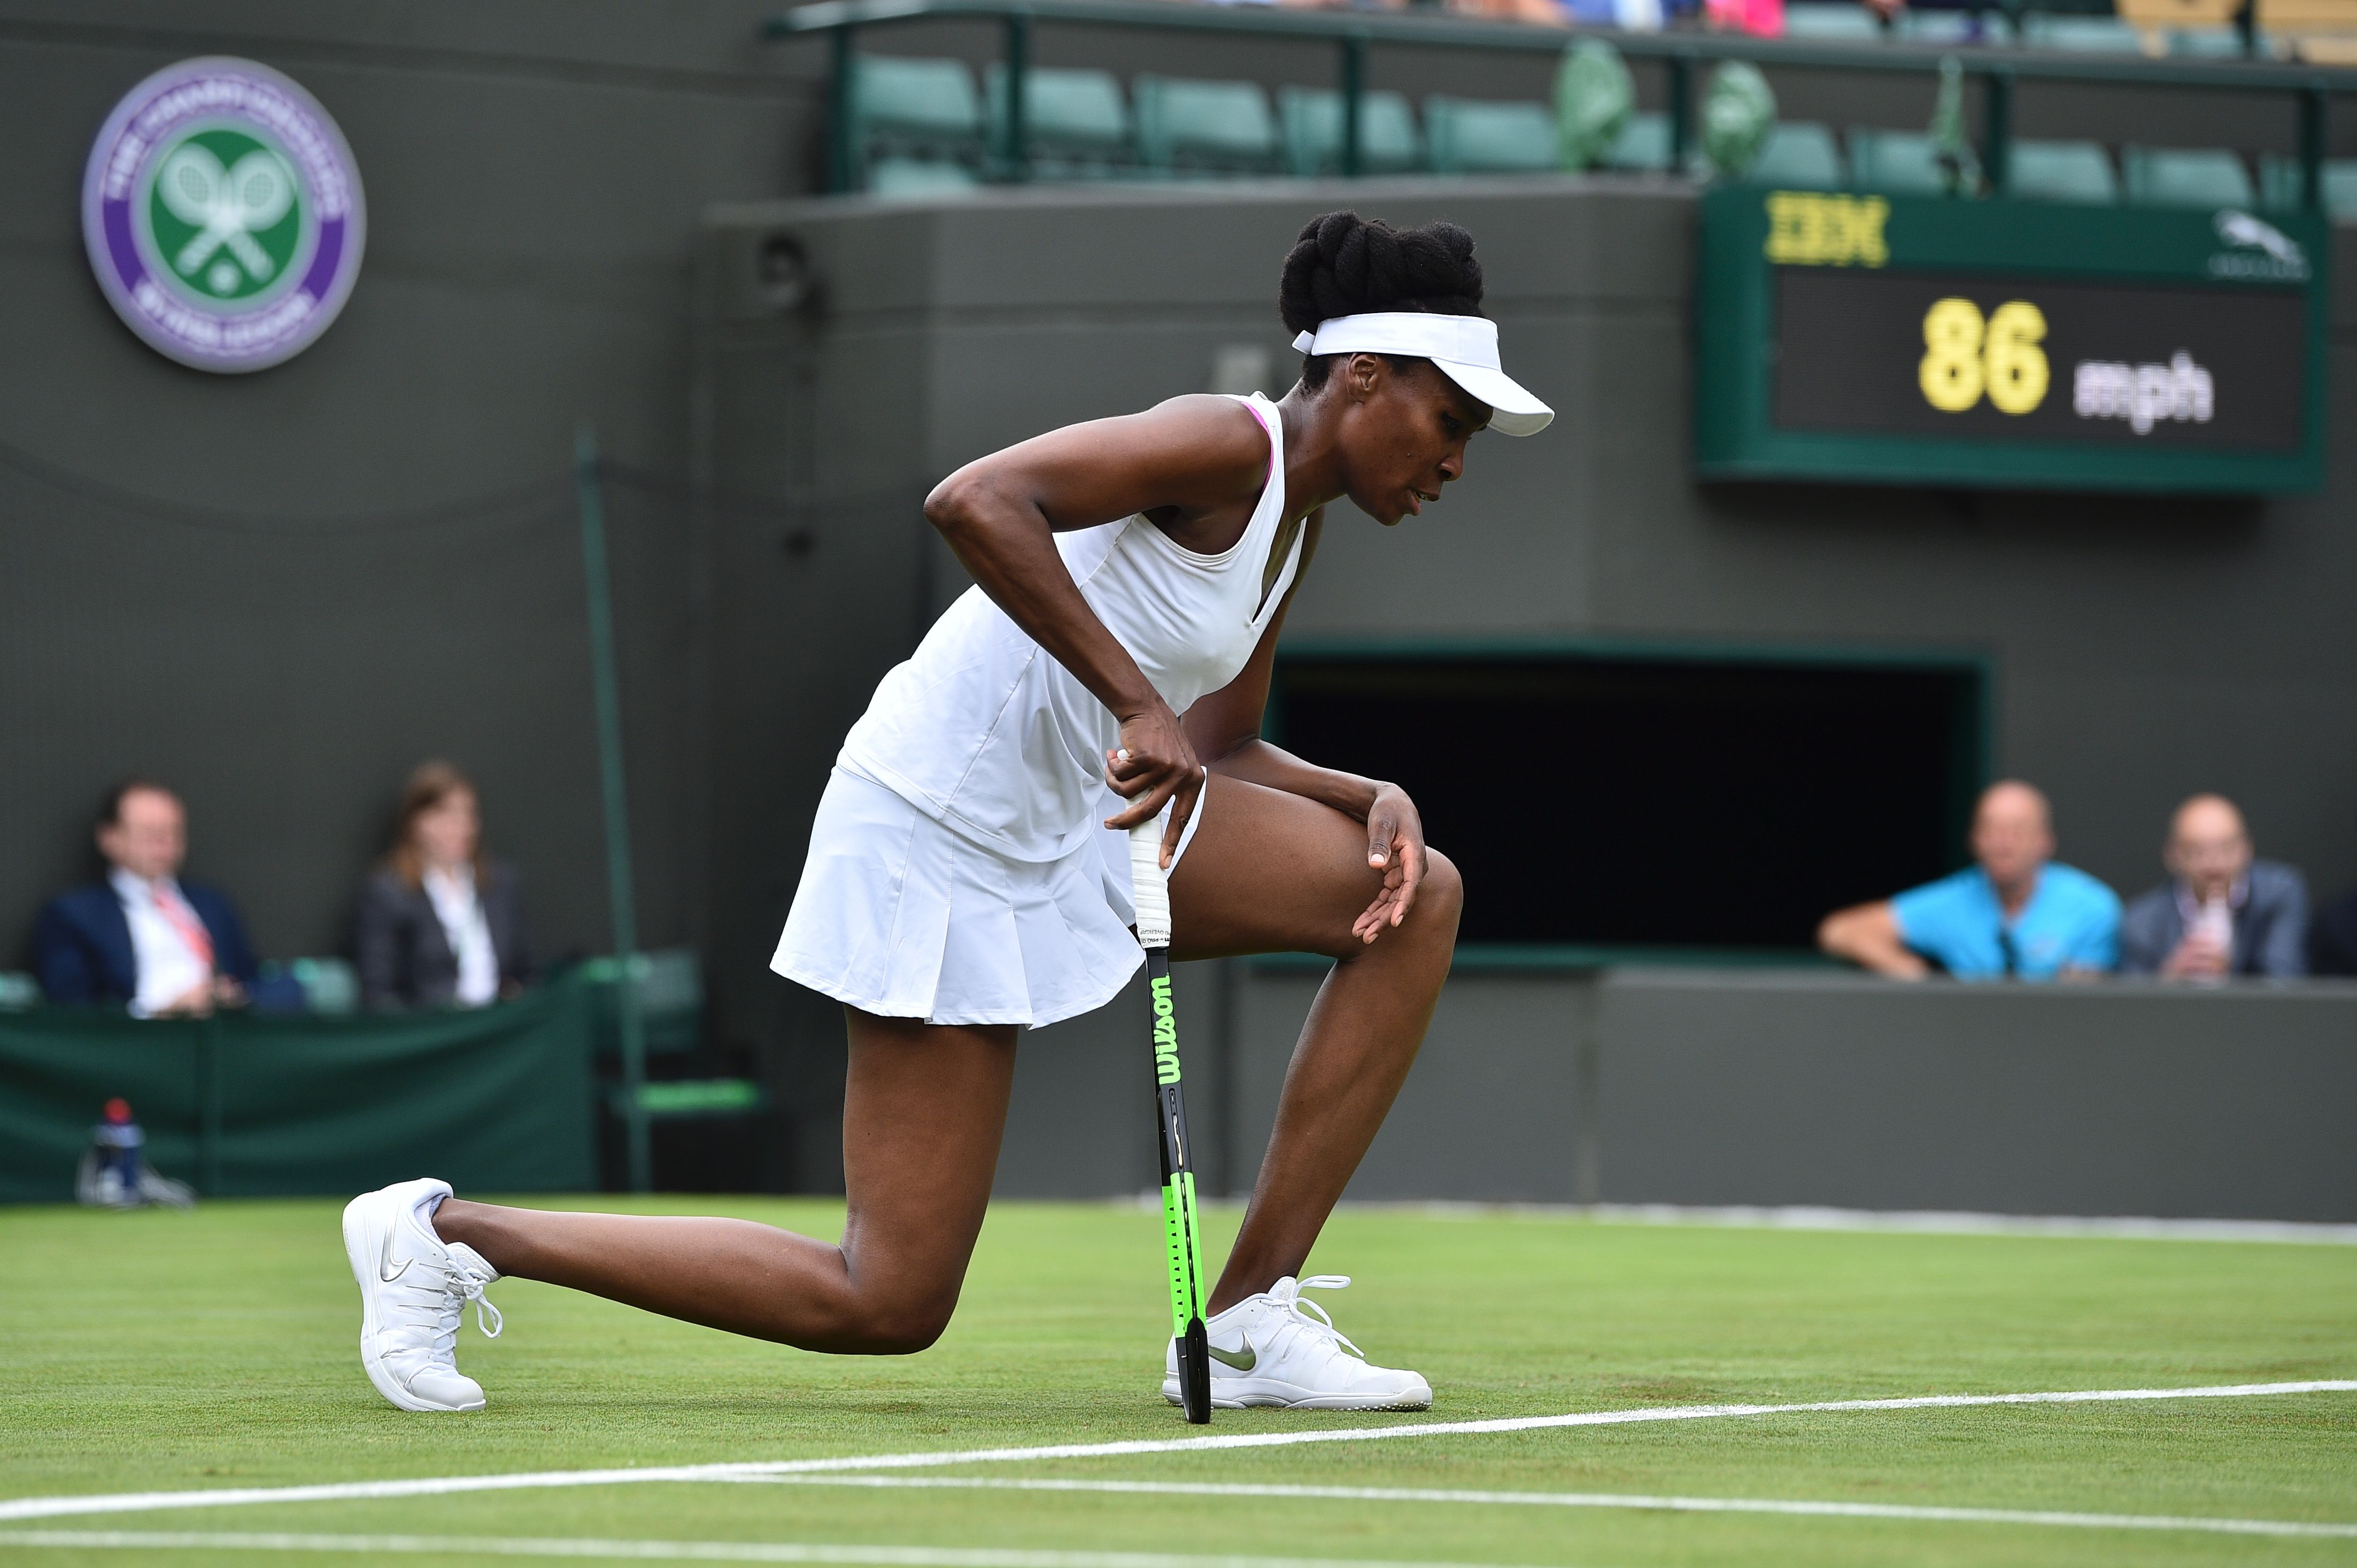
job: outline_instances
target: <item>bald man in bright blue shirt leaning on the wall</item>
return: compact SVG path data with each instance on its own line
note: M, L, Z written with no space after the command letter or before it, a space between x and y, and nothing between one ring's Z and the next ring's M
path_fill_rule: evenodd
M1919 981L2102 974L2119 955L2119 894L2053 858L2046 797L1989 785L1973 809L1973 865L1897 898L1834 910L1817 946L1834 957Z

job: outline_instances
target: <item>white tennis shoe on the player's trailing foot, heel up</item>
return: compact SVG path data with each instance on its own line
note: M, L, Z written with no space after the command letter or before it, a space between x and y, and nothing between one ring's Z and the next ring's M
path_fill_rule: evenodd
M361 1285L361 1365L403 1410L481 1410L483 1386L457 1370L457 1323L474 1302L486 1339L500 1309L483 1290L500 1271L467 1243L434 1233L448 1181L398 1181L344 1205L344 1257Z

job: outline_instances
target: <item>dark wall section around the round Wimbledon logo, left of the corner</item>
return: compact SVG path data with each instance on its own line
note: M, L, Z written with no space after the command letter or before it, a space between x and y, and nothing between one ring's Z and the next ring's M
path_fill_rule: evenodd
M761 14L0 7L0 967L87 868L90 806L130 771L189 795L191 870L238 896L264 953L332 948L429 755L481 776L542 946L603 946L580 420L662 479L613 495L615 582L641 929L695 936L688 255L707 203L801 184L811 99L754 42ZM292 73L368 193L349 309L247 377L151 354L82 257L90 139L191 54Z

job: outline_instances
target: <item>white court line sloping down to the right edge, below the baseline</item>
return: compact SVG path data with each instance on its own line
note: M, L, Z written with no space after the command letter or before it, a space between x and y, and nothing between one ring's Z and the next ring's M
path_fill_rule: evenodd
M1638 1497L1629 1493L1452 1493L1414 1485L1252 1485L1221 1481L1009 1481L1004 1476L733 1476L761 1485L957 1488L990 1493L1167 1493L1176 1497L1310 1497L1336 1502L1471 1502L1487 1507L1638 1509L1664 1514L1787 1514L1801 1518L1916 1518L1933 1523L2077 1526L2088 1530L2201 1530L2357 1540L2357 1523L2204 1518L2199 1514L2065 1514L2053 1509L1942 1509L1900 1502L1787 1502L1775 1497ZM0 1542L7 1542L0 1535Z

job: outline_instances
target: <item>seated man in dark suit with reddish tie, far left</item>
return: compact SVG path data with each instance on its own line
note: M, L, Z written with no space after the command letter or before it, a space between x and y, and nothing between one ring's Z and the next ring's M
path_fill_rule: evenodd
M141 1019L240 1007L259 964L238 910L181 882L189 813L160 783L132 778L99 806L106 882L59 894L33 924L33 969L52 1002L123 1002Z

